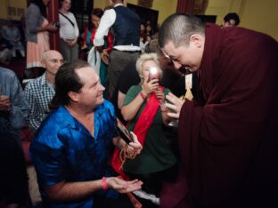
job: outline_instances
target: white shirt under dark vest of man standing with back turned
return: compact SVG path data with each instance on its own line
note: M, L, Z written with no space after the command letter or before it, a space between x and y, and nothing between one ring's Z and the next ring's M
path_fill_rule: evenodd
M114 7L124 6L124 4L115 4ZM115 23L116 20L116 12L113 9L106 10L100 21L99 28L96 30L96 34L94 36L94 45L102 46L104 44L103 36L107 36L109 29ZM140 51L141 48L136 45L115 45L113 48L119 51Z

